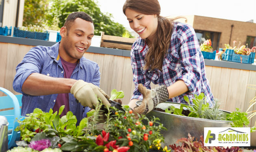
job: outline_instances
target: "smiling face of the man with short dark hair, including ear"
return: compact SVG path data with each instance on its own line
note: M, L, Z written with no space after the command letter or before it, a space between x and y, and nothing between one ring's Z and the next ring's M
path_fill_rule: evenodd
M61 27L60 56L67 62L76 63L87 51L94 36L93 23L77 18L69 29Z

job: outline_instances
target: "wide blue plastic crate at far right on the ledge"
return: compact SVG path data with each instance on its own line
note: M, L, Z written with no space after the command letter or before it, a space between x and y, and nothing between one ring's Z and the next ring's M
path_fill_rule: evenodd
M234 50L226 49L225 53L222 54L223 61L239 62L239 63L254 63L255 52L250 55L239 55L235 54Z

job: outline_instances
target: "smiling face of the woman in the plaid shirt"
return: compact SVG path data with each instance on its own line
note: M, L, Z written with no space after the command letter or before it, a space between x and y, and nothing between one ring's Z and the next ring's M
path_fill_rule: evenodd
M148 38L152 41L158 24L157 15L141 14L130 8L126 9L125 15L132 30L137 32L141 38Z

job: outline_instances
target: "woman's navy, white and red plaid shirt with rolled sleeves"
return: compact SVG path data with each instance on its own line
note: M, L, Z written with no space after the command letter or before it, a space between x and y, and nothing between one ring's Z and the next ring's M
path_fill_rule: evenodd
M145 39L140 37L132 45L131 65L135 90L131 99L143 99L138 90L140 83L147 89L151 89L150 82L159 85L165 84L169 87L174 82L183 80L189 91L168 99L168 101L187 103L183 98L186 95L189 97L189 101L193 103L194 94L204 93L206 101L210 106L213 106L214 99L210 91L210 84L206 79L204 57L200 51L193 27L184 23L173 23L173 33L169 49L163 59L162 71L158 69L143 70L148 49Z

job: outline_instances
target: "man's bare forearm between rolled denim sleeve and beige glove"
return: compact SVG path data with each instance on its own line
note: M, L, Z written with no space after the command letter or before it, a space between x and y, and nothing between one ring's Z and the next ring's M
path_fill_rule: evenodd
M68 78L54 78L39 73L28 76L22 85L22 91L28 95L50 95L70 93L72 85L77 80Z

